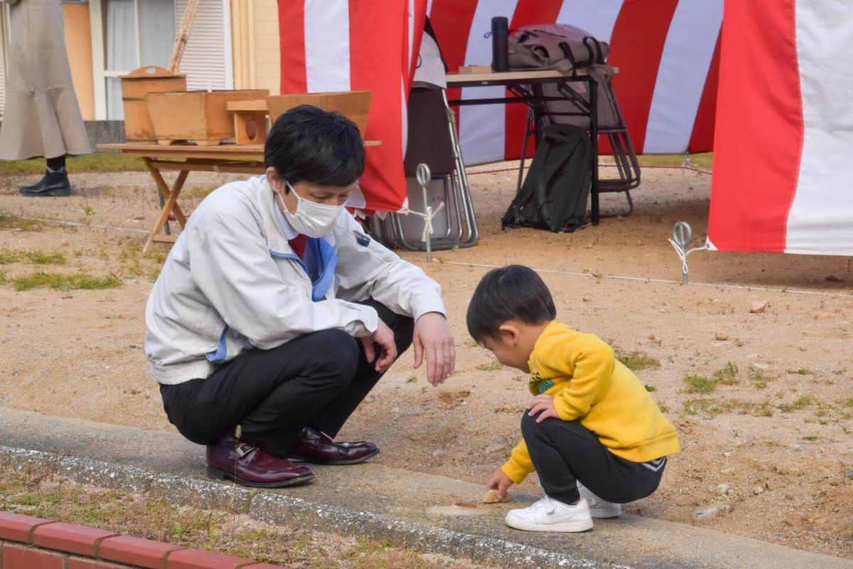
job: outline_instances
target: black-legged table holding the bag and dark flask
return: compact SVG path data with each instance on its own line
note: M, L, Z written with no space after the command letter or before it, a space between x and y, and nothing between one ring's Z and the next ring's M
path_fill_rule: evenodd
M613 67L613 72L618 73L618 68ZM453 73L448 74L447 86L450 87L488 87L502 85L508 88L514 96L503 96L486 99L462 99L451 101L451 105L491 105L506 103L525 103L534 111L534 121L537 136L543 129L538 122L537 106L548 101L565 101L565 97L543 96L541 85L562 83L584 83L589 90L589 103L586 108L578 107L578 115L589 117L589 138L592 142L592 166L590 169L592 197L592 224L599 224L599 175L598 175L598 89L595 78L584 68L562 73L555 69L533 70L533 71L510 71L504 73ZM502 119L502 118L501 118ZM525 136L526 141L526 136ZM519 175L519 187L521 178Z

